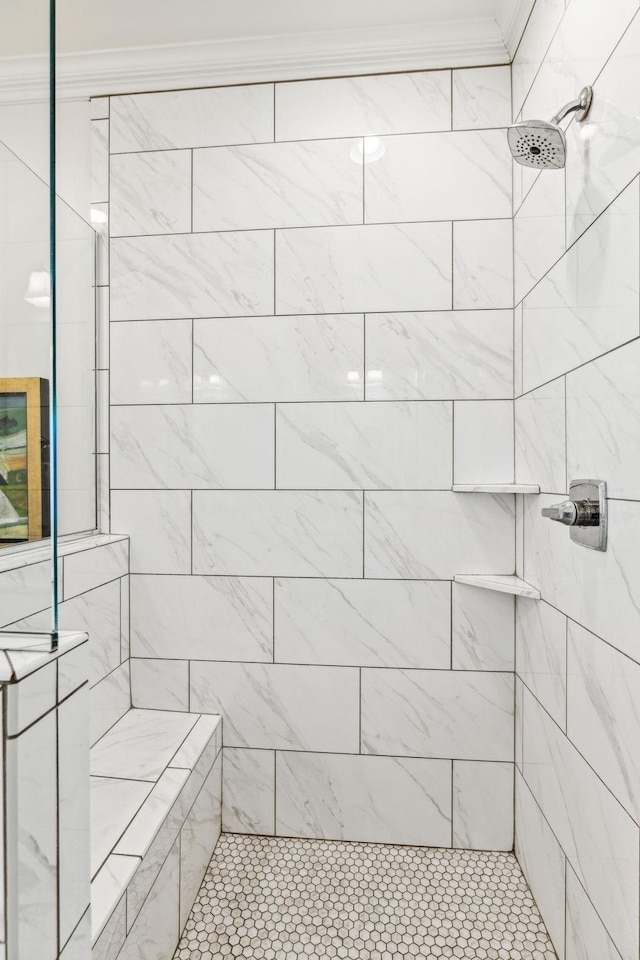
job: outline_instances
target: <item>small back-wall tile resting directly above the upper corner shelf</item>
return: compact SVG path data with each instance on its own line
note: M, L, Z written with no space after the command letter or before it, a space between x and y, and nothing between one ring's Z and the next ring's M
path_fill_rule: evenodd
M454 404L453 482L513 482L513 402Z

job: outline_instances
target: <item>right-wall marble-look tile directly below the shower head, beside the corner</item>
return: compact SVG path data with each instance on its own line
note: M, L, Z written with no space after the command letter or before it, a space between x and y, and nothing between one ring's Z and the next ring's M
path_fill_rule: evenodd
M536 180L514 217L516 303L520 303L564 251L564 174L562 171L551 171Z

